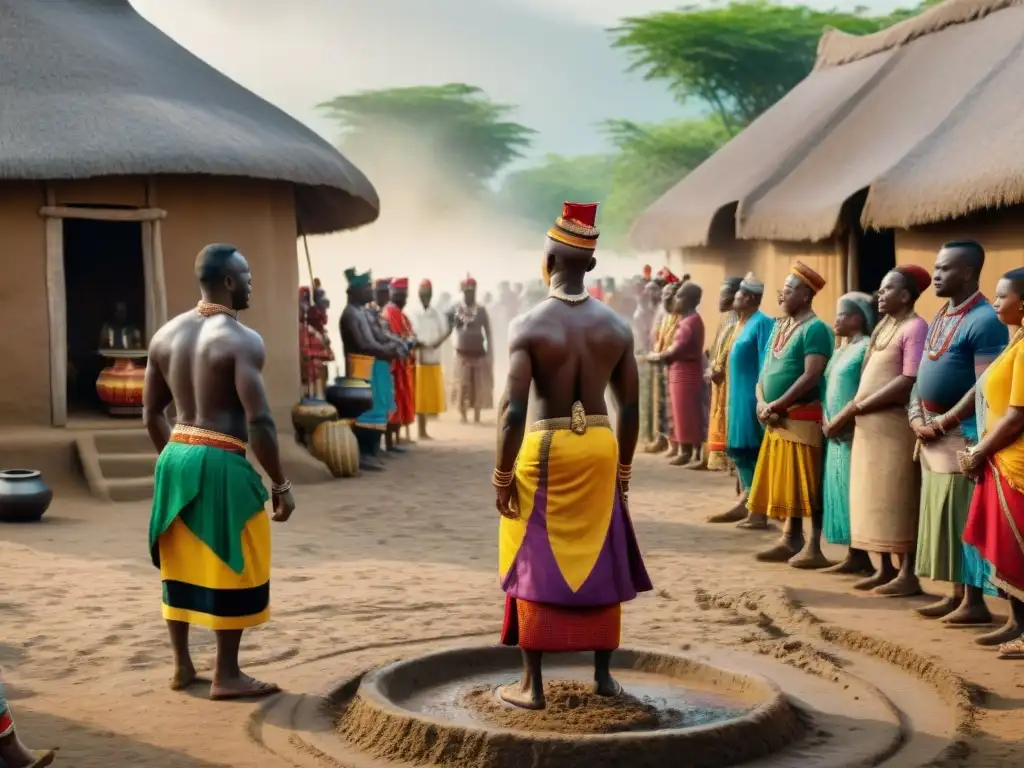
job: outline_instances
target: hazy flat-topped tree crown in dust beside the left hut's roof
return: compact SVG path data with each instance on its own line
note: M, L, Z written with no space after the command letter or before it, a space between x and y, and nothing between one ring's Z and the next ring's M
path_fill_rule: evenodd
M413 163L429 159L432 168L475 189L521 157L535 133L508 119L512 106L464 83L362 91L319 109L341 127L342 146L371 168L397 145L422 156Z

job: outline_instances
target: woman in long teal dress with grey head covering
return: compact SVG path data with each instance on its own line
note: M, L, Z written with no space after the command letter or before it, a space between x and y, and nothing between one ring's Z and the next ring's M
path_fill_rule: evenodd
M825 436L822 532L829 544L844 547L850 546L850 447L854 418L847 407L857 394L864 353L877 319L874 299L866 293L848 293L840 298L833 330L846 343L825 367L825 394L821 399L821 431ZM863 550L851 549L846 561L833 570L870 572L871 561Z

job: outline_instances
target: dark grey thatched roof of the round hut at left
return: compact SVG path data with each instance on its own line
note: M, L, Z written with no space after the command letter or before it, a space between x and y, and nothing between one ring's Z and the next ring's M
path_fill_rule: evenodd
M0 0L0 179L211 174L295 184L309 234L374 221L366 176L128 0Z

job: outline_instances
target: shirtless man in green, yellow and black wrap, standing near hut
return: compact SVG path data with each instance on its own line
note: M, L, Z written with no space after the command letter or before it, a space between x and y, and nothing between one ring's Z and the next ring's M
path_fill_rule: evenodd
M160 454L150 551L163 581L171 687L198 680L188 652L196 624L217 638L210 697L261 696L278 686L239 667L243 631L270 614L268 497L246 459L247 443L273 483L272 519L287 521L295 501L263 387L263 340L238 319L252 295L249 264L234 246L210 245L196 259L196 276L202 300L150 343L143 420ZM172 403L173 429L166 415Z

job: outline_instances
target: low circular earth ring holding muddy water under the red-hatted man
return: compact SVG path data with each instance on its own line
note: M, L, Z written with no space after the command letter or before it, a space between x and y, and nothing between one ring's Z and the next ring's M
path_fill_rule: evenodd
M612 698L590 690L593 654L546 660L543 712L495 692L518 677L516 649L460 648L350 681L332 696L336 728L371 760L450 768L654 768L682 756L690 768L725 768L781 750L806 728L767 679L686 656L616 651L625 693Z

